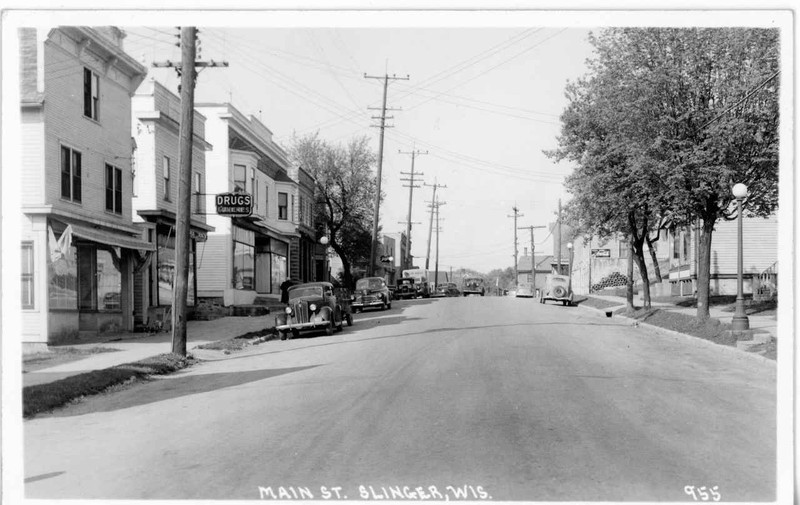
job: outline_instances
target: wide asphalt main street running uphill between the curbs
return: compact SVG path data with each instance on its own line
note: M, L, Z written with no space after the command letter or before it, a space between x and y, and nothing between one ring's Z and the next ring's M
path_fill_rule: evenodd
M26 497L775 499L774 363L581 308L396 301L226 358L25 422Z

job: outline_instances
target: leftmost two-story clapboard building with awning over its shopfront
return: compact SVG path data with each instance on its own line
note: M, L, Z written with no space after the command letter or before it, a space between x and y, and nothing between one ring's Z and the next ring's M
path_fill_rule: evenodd
M146 68L114 27L19 30L22 340L133 329L131 96ZM6 167L10 169L10 167Z

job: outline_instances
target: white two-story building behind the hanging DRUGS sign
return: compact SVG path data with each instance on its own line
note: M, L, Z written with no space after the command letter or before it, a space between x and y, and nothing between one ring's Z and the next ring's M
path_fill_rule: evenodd
M290 244L298 238L297 183L289 160L257 118L231 104L197 104L206 118L207 224L214 227L198 248L197 296L225 306L252 304L258 296L279 298L289 278ZM217 215L222 193L252 196L252 214Z

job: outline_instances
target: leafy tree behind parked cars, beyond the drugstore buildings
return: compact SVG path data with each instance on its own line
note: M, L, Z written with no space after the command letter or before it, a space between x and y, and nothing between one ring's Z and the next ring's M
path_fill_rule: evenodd
M353 268L369 261L372 241L376 184L369 140L359 137L334 146L318 134L294 137L289 156L316 181L316 218L342 260L345 286L352 289Z

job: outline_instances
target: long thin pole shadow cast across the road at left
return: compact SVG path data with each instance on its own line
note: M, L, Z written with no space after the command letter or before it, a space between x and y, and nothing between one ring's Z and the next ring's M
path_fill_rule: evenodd
M169 378L154 378L147 382L147 386L149 387L135 387L118 392L114 395L97 397L97 399L102 398L102 401L94 401L96 398L90 398L86 402L75 404L70 408L56 410L46 415L46 417L72 417L95 412L114 412L129 407L138 407L164 400L172 400L182 396L208 393L227 387L240 386L249 382L301 372L318 366L320 365L251 370L246 372L212 373L205 375L194 374L178 376L176 374ZM45 416L43 415L41 417Z

